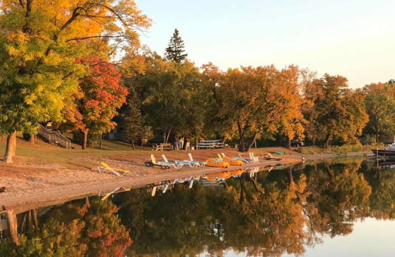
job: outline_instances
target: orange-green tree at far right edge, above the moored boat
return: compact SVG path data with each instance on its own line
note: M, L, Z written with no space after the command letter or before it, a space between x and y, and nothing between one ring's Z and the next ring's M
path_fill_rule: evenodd
M364 86L363 91L366 93L365 105L369 115L366 129L376 134L376 142L379 142L379 136L393 136L395 134L393 86L372 83Z

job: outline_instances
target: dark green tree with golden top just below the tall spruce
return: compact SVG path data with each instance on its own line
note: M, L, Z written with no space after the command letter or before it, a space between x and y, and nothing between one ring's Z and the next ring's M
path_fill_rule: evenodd
M142 92L147 125L162 131L163 142L171 132L179 137L195 136L202 127L197 67L189 61L165 62L159 56L149 62L145 75L135 82L136 90Z

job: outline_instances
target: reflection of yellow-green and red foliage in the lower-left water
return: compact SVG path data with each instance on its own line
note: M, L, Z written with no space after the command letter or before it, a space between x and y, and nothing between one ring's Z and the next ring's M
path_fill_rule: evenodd
M36 210L25 212L18 243L2 239L0 256L123 257L132 241L117 211L112 202L95 199L53 208L33 224L29 216Z

